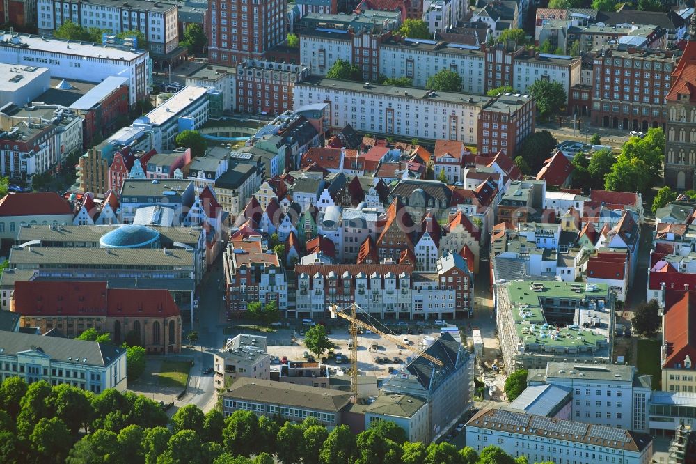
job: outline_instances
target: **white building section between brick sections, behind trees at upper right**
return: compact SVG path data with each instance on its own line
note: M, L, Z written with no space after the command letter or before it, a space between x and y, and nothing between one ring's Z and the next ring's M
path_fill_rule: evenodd
M551 82L558 82L566 92L566 102L570 95L570 88L580 83L580 59L564 59L560 56L540 61L537 59L519 59L513 61L513 87L516 91L526 92L536 81L546 78Z

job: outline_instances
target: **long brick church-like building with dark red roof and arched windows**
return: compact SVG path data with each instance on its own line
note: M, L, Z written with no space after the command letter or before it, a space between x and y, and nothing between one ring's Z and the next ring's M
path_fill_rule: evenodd
M148 353L179 353L181 316L166 290L108 288L99 281L17 281L10 311L21 327L57 330L74 338L87 329L111 340L143 346Z

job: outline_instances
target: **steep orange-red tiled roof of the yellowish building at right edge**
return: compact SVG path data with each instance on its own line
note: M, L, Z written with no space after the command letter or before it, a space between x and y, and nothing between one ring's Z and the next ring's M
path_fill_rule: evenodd
M683 366L689 356L696 361L696 291L683 288L667 291L665 294L664 340L667 356L662 367Z

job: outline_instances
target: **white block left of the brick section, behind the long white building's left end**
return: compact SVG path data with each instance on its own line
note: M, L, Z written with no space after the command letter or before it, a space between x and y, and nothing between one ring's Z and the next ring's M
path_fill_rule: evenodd
M336 30L333 37L327 33L300 34L300 63L310 74L325 76L338 59L351 60L353 42L345 31ZM295 105L299 107L299 105Z

